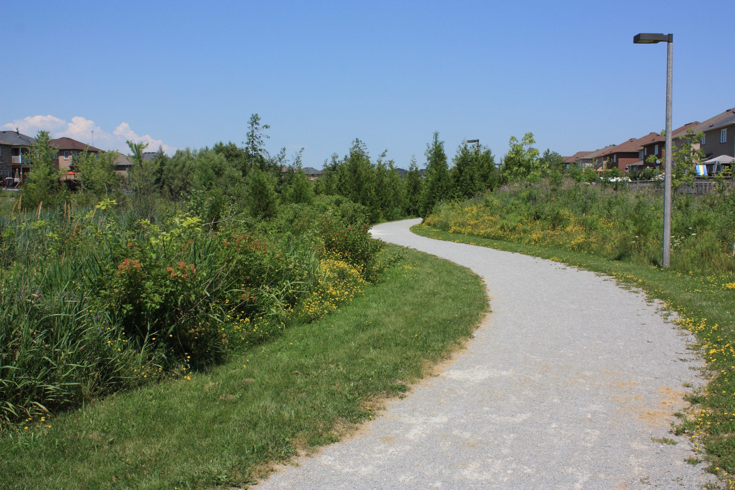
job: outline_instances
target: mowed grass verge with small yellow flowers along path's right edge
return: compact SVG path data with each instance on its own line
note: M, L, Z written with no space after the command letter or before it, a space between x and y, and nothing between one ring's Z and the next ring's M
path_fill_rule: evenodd
M640 288L651 298L663 300L677 312L679 325L697 336L695 348L709 363L704 373L709 382L689 397L695 411L677 414L681 423L673 431L691 436L698 450L706 448L710 472L723 479L735 472L735 284L728 283L731 276L680 273L590 253L449 233L423 224L412 226L411 231L422 237L523 253L612 275L623 286ZM735 481L728 488L734 486Z

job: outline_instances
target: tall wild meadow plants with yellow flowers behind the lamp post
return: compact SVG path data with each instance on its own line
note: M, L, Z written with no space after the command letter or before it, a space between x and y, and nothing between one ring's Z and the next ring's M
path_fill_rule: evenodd
M671 267L685 273L734 274L735 189L675 194ZM516 184L466 201L444 202L425 223L445 231L595 253L660 265L660 192L599 185Z

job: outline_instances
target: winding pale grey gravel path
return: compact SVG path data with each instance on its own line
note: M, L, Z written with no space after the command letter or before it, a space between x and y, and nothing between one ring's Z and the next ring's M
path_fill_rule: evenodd
M701 363L656 305L557 262L418 237L418 222L373 235L470 267L492 314L442 374L258 489L702 488L668 432Z

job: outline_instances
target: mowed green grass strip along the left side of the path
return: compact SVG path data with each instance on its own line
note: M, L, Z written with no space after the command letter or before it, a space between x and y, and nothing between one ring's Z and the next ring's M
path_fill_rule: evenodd
M426 253L404 250L382 279L339 313L190 380L0 433L0 486L245 486L273 461L336 441L461 346L487 310L477 275Z

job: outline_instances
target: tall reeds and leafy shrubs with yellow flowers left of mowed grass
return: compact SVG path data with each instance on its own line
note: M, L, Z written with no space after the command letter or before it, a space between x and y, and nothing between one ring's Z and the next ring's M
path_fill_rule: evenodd
M186 375L359 295L380 242L337 200L287 206L293 228L110 200L0 217L0 421Z

